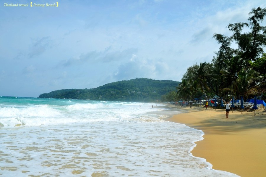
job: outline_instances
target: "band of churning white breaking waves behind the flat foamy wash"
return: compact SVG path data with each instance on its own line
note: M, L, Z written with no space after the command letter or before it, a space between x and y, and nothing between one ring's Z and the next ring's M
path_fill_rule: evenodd
M152 109L150 104L144 103L139 107L138 103L69 101L60 106L27 104L0 107L0 123L4 126L39 126L95 121L162 122L159 115L150 115L149 112L165 110Z

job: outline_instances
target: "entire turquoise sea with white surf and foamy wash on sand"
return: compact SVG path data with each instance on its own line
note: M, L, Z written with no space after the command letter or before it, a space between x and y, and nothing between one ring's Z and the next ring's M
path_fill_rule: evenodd
M153 107L152 107L153 105ZM190 151L166 104L0 96L0 176L237 176Z

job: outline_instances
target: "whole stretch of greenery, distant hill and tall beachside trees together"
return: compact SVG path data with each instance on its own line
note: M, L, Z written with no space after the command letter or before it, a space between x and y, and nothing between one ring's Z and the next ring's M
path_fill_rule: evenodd
M231 36L215 33L213 38L220 48L212 62L190 66L181 82L136 78L91 89L57 90L39 97L131 102L189 101L215 95L266 99L266 27L261 25L265 16L266 8L253 8L247 22L225 27Z

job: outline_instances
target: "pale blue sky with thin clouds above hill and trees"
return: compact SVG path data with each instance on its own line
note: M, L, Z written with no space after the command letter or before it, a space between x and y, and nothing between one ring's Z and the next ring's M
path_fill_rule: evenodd
M135 78L181 81L188 67L212 61L220 47L214 33L231 36L229 23L248 22L252 8L266 7L265 0L30 2L0 3L1 96Z

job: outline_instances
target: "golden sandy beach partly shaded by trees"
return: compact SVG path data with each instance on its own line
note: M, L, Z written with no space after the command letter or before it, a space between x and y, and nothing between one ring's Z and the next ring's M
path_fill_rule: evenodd
M225 110L204 107L180 107L186 111L167 119L202 130L202 141L192 150L192 155L202 157L213 169L224 170L239 176L265 176L266 174L266 115L264 108L249 111Z

